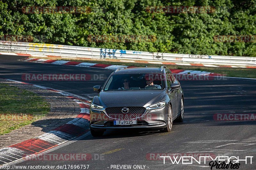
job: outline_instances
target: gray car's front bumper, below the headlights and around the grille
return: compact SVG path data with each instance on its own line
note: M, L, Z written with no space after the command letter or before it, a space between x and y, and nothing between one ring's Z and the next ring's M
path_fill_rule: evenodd
M90 127L92 129L162 129L167 126L168 107L149 109L139 117L136 125L114 125L114 119L108 117L104 109L90 109ZM134 120L133 119L133 120ZM123 119L124 120L124 119ZM129 119L132 120L132 119Z

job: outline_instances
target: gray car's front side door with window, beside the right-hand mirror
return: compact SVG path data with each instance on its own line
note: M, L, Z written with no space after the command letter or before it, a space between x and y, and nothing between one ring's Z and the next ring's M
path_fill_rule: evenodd
M174 118L178 114L178 100L177 100L177 90L171 92L171 85L174 83L172 75L170 71L166 72L166 82L168 87L168 96L172 101L172 117ZM175 92L176 91L176 92Z

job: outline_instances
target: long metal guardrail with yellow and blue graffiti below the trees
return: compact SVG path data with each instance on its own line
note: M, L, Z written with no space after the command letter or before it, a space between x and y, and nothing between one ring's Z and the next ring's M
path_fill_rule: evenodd
M117 50L106 48L89 48L56 44L0 41L1 52L22 53L31 55L52 55L71 58L92 59L128 59L152 62L200 63L234 66L256 66L256 57L190 55L172 53L152 53L143 51Z

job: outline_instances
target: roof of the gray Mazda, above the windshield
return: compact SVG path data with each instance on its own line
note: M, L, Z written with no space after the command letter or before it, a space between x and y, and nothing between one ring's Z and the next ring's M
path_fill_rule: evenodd
M159 67L134 67L125 68L114 72L113 74L136 74L136 73L162 73Z

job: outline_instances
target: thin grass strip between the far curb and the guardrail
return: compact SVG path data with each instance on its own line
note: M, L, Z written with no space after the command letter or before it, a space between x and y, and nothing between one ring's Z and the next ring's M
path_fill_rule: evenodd
M35 57L30 57L35 58ZM36 57L44 58L44 57ZM88 62L88 63L99 63L99 64L113 64L113 65L127 65L135 67L161 67L162 64L149 64L149 63L123 63L105 60L92 60L92 59L66 59L61 57L47 57L51 60L66 60L66 61L76 61L76 62ZM143 61L141 61L143 62ZM180 70L199 70L208 71L218 74L223 74L228 77L241 77L241 78L256 78L256 69L251 68L230 68L230 67L202 67L202 66L182 66L182 65L166 65L169 69L180 69Z

